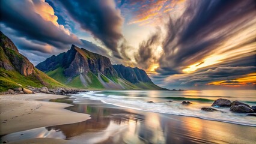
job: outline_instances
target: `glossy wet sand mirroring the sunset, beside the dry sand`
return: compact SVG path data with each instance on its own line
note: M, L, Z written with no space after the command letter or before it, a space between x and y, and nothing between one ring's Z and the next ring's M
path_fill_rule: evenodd
M59 98L51 101L72 104L73 100ZM94 100L83 100L67 109L87 113L91 115L91 119L11 133L1 140L35 139L35 133L41 133L47 137L66 139L69 143L256 142L255 127L124 109Z

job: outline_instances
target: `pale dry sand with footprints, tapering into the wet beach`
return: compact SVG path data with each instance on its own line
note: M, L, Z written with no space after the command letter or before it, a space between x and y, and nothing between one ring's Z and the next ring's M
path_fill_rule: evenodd
M38 101L64 98L53 94L0 95L0 136L52 125L73 124L90 119L90 115L65 109L66 103Z

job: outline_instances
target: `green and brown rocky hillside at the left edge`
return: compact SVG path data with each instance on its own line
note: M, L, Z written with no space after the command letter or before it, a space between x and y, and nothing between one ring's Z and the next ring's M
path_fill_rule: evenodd
M49 88L64 86L35 68L28 58L19 53L13 41L1 31L0 37L0 91L28 85Z

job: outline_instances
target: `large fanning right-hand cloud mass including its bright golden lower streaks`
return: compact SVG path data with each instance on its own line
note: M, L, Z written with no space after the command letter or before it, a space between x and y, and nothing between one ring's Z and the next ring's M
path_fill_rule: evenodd
M175 74L169 83L174 82L174 77L184 76L184 81L179 83L184 85L197 80L204 82L201 76L189 77L194 73L217 67L255 65L255 13L254 1L188 1L184 13L178 18L171 16L166 33L159 34L165 35L163 52L157 61L154 59L157 64L151 63L159 66L157 76L153 76L163 80ZM150 51L157 48L147 47L152 47ZM140 50L139 56L143 58L145 51ZM152 57L145 58L151 61ZM136 60L140 64L140 59ZM229 76L234 74L230 72ZM225 77L219 77L223 79Z

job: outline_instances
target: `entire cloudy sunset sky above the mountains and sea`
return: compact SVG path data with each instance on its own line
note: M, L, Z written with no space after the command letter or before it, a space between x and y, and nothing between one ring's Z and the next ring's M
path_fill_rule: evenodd
M164 88L256 88L254 0L0 3L1 31L34 65L75 44Z

